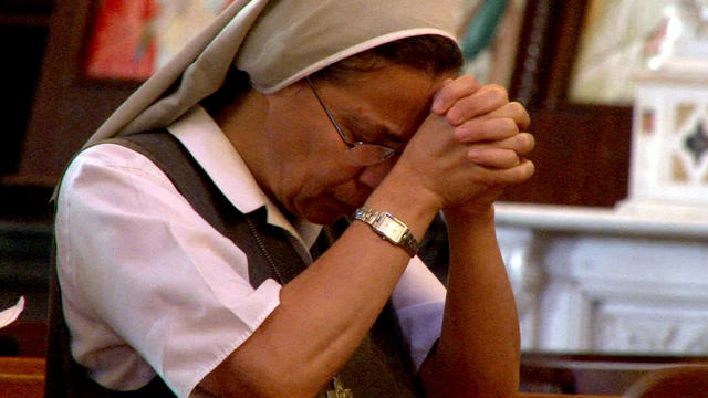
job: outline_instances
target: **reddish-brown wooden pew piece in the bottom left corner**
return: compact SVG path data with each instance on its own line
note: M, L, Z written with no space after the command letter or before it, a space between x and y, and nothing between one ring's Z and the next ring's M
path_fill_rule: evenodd
M44 358L0 357L0 395L2 398L42 398L44 396Z

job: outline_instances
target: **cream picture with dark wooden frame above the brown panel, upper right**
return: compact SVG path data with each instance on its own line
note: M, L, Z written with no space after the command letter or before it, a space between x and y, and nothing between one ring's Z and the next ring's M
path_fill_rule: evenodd
M671 15L701 18L701 3L528 0L511 92L532 108L627 109L635 76L662 51Z

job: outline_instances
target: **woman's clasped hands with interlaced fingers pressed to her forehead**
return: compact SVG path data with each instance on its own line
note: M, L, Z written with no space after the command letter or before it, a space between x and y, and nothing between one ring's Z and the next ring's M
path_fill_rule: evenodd
M446 80L430 115L402 156L412 174L439 201L438 208L480 212L509 185L528 180L534 146L530 117L499 85L472 76Z

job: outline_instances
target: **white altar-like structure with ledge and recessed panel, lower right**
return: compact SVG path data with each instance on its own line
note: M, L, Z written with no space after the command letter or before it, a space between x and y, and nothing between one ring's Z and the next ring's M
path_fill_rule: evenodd
M708 355L708 221L497 205L527 350Z

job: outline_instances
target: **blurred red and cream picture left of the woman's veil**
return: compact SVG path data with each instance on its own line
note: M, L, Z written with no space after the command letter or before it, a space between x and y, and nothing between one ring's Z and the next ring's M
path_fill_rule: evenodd
M95 1L84 74L94 80L144 81L231 2Z

